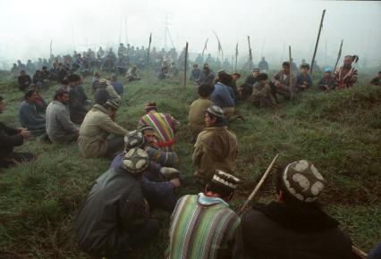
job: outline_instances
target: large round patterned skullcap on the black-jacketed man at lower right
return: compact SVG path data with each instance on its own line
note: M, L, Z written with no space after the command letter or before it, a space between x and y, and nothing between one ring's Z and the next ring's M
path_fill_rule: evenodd
M282 181L285 189L301 202L312 203L324 189L324 178L318 169L307 160L287 165Z

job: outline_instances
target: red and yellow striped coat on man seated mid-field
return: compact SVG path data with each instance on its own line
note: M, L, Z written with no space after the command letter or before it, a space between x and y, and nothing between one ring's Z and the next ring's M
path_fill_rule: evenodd
M170 114L150 111L140 118L139 126L149 125L155 129L158 138L157 146L165 151L172 151L174 146L174 131L179 122Z

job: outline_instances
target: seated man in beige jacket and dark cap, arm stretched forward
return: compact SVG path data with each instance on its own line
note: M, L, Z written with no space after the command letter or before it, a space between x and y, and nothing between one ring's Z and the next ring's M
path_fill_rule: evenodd
M105 104L95 104L80 125L78 146L84 157L114 156L123 150L126 129L114 120L119 104L108 100ZM109 138L113 134L113 138Z

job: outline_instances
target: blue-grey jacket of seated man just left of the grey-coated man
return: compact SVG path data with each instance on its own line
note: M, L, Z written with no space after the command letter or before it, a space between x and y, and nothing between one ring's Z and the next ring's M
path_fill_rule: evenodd
M20 105L19 119L24 128L30 130L45 129L45 117L38 114L35 104L30 104L26 100Z

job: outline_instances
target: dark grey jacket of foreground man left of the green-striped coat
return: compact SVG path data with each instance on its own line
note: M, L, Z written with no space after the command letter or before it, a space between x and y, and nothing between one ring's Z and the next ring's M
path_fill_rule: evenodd
M129 232L148 219L140 180L122 167L102 174L91 189L75 222L80 248L93 256L128 249Z

